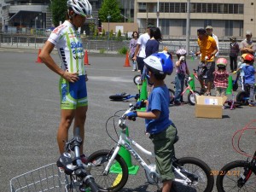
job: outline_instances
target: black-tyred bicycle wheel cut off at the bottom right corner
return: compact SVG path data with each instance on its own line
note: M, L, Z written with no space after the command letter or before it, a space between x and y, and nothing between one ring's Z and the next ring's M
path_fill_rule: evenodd
M250 164L244 160L228 163L218 173L216 186L218 192L256 191L256 176Z

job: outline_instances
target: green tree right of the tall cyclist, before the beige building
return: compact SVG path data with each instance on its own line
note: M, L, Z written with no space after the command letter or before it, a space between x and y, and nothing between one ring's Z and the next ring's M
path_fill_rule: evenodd
M120 3L117 0L103 0L102 8L99 9L99 18L102 20L102 22L108 22L108 14L111 16L109 21L122 21Z

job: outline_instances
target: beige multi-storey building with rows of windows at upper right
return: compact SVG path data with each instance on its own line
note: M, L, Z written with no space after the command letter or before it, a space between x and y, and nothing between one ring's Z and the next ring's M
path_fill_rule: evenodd
M187 0L135 0L135 21L140 32L148 23L157 23L157 2L159 2L159 27L163 36L186 35ZM190 35L196 36L196 29L212 26L213 33L222 37L244 37L250 30L256 35L255 0L191 0Z

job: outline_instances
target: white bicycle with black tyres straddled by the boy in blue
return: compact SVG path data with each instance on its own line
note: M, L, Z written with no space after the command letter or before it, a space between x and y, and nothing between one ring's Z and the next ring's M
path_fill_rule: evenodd
M119 155L119 151L124 148L143 167L145 175L148 179L148 183L155 184L157 188L160 189L159 183L161 183L161 177L160 174L156 171L154 162L149 162L147 164L133 147L136 147L140 152L146 154L148 159L149 157L154 157L154 153L143 148L141 145L131 139L131 137L127 137L126 134L128 127L125 124L125 114L135 109L136 108L130 104L130 108L126 110L125 113L123 113L120 117L117 115L117 113L120 112L118 111L109 118L113 118L114 122L114 118L119 117L119 141L116 141L115 146L111 150L103 149L96 151L95 153L91 154L88 159L92 165L90 174L95 178L96 183L98 184L98 187L101 191L119 191L125 186L125 183L128 180L129 171L125 160ZM108 121L106 123L106 131L108 131L107 128ZM176 142L177 140L178 137ZM120 173L114 172L113 166L118 166ZM196 190L199 192L212 191L214 178L210 174L210 167L207 166L207 164L202 160L196 159L194 157L183 157L180 159L173 157L172 170L175 174L174 183L180 183L184 188L189 189L188 191L191 191L191 189L192 191ZM187 190L182 189L179 191L185 192Z

